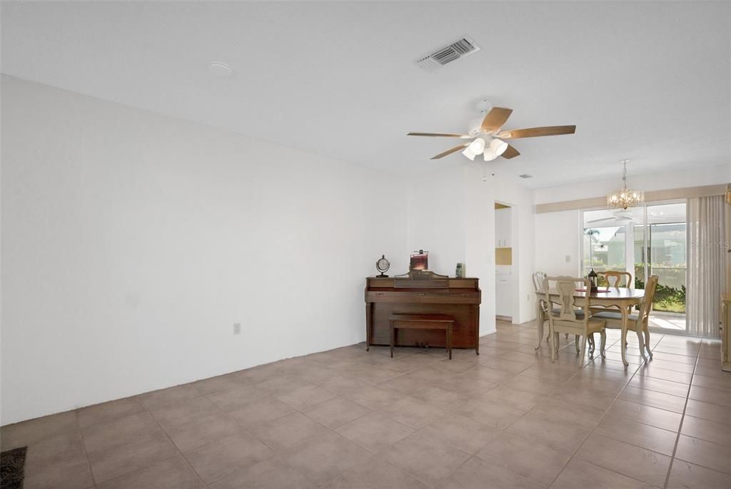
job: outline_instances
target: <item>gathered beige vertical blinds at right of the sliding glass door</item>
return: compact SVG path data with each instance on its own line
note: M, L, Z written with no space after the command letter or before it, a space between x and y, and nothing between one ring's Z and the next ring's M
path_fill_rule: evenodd
M729 205L724 197L688 199L688 333L719 336L721 293L726 287L726 226Z

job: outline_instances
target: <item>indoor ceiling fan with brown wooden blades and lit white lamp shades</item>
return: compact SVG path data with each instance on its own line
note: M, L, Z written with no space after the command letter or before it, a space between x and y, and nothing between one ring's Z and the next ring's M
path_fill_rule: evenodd
M506 159L515 158L520 155L518 150L506 143L504 140L518 139L520 137L557 136L559 134L574 134L576 126L543 126L531 127L529 129L513 129L501 131L507 118L512 114L512 109L505 107L492 107L486 99L477 102L477 110L480 110L480 118L474 119L469 125L467 134L452 134L439 132L409 132L409 136L428 137L458 137L469 140L443 153L432 156L431 159L440 159L444 156L462 150L462 154L474 160L475 156L483 155L486 162L502 156Z

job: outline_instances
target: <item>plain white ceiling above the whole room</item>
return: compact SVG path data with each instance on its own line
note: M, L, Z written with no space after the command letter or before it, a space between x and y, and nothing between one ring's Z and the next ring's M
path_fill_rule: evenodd
M731 162L728 2L3 2L1 40L8 75L393 173L468 164L406 132L463 132L483 96L506 129L577 125L491 164L528 186Z

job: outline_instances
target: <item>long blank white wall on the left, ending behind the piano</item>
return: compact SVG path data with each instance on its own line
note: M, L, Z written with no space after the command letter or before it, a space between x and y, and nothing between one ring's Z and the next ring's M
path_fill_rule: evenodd
M403 178L11 77L1 102L1 424L362 341L364 278L406 270Z

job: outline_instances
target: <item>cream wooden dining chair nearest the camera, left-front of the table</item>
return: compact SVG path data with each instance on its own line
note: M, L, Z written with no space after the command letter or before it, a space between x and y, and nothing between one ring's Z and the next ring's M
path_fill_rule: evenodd
M558 291L558 300L556 297L553 301L550 298L550 283L555 283L555 289ZM583 358L586 351L586 338L594 333L602 336L602 345L599 349L602 357L605 357L605 346L607 344L607 334L605 331L604 319L594 319L589 311L589 295L584 297L574 297L576 289L583 288L589 290L588 278L574 278L567 276L545 277L543 289L545 290L545 301L550 304L554 302L558 307L551 308L548 311L548 332L550 334L551 361L556 360L556 352L558 346L558 333L568 333L577 336L576 352L581 353ZM581 349L579 349L578 336L581 336Z

